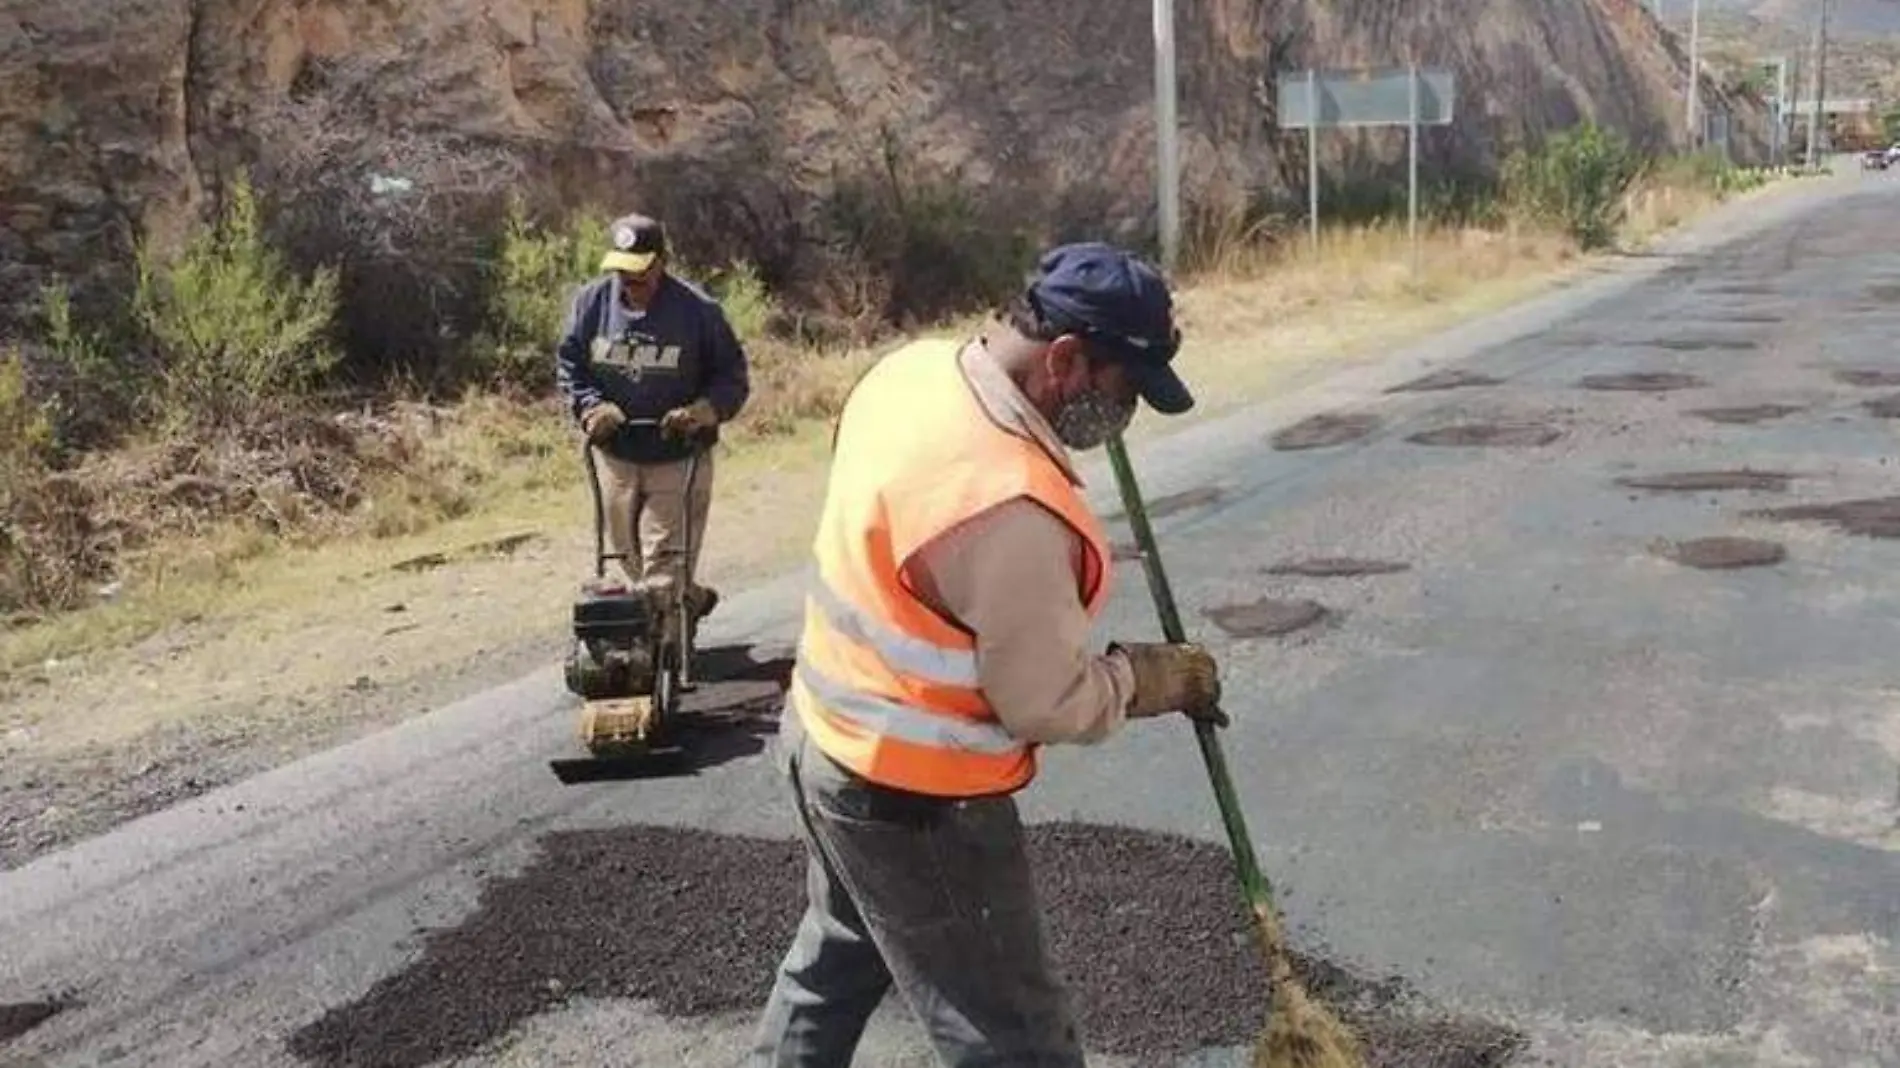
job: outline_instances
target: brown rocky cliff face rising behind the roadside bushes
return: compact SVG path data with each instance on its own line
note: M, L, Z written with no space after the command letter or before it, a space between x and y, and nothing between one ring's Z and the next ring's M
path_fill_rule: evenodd
M1682 135L1685 61L1640 0L1208 0L1178 8L1186 196L1298 190L1273 70L1421 63L1459 76L1427 173L1596 118ZM912 165L1009 190L1024 217L1148 224L1150 6L1138 0L15 0L0 13L0 325L61 272L175 239L270 144L283 101L350 80L353 122L458 131L530 188L667 213L707 258L796 232L840 173ZM1706 89L1737 110L1759 108ZM1759 137L1737 137L1746 154ZM1396 135L1326 137L1330 177ZM792 249L796 241L788 241ZM794 255L779 249L779 255Z

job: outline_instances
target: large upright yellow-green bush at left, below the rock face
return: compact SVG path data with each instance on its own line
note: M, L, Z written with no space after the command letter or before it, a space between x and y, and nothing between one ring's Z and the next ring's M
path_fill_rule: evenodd
M336 363L336 272L300 279L258 228L247 181L179 257L137 251L133 319L158 353L160 412L173 428L304 395Z

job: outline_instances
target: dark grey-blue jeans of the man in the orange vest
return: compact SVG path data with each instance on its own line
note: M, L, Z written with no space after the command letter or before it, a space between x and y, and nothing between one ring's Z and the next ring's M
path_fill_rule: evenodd
M846 1068L895 986L948 1068L1081 1068L1016 804L940 800L851 775L785 711L809 903L758 1024L752 1068Z

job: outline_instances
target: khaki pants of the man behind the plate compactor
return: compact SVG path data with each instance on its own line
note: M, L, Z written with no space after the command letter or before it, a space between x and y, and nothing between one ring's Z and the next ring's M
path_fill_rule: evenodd
M688 460L633 464L595 448L600 504L606 507L608 545L625 553L621 568L642 585L671 587L692 582L705 545L707 511L712 507L712 452L699 454L692 500L686 494ZM694 559L686 559L692 528ZM635 536L638 534L638 542Z

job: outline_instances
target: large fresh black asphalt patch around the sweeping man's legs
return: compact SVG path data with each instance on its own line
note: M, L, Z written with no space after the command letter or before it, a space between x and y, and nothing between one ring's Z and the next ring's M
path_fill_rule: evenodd
M1246 1047L1267 981L1220 846L1075 823L1028 830L1049 948L1085 1043L1172 1058ZM635 998L665 1017L758 1009L804 910L798 842L667 827L566 830L492 882L462 924L363 998L289 1039L314 1064L420 1068L471 1055L568 998ZM1374 1068L1495 1068L1524 1039L1433 1013L1404 981L1294 960ZM612 1060L610 1051L602 1055Z

